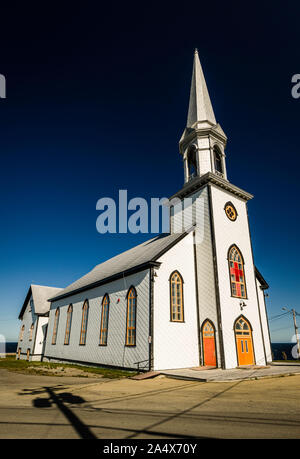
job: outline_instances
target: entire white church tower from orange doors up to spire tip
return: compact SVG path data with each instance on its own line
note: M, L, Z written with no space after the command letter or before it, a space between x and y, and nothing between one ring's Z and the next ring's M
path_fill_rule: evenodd
M272 357L248 221L253 196L227 179L226 142L196 50L179 142L185 182L169 201L171 233L193 232L199 364L265 365Z

